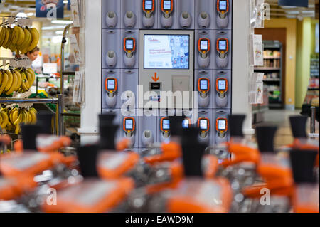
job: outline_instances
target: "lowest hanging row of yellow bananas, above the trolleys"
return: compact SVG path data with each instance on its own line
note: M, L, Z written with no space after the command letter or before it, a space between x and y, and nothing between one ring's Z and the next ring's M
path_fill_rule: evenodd
M35 108L18 108L13 109L1 108L0 110L0 127L7 132L20 133L21 124L34 125L37 122L37 111Z

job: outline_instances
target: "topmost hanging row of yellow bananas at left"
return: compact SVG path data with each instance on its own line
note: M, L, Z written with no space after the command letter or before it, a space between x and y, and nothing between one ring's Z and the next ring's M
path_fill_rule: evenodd
M3 26L0 31L0 47L18 54L32 51L39 41L40 34L36 28L22 28L21 26Z

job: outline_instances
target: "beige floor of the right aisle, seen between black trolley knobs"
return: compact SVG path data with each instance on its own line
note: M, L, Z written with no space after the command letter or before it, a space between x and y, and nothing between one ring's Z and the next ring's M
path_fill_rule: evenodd
M281 147L293 142L289 117L292 115L299 115L300 110L268 110L264 113L264 121L260 124L277 125L278 130L274 139L274 146ZM307 132L310 132L310 119L307 121ZM255 126L254 126L255 127ZM316 133L319 133L319 122L316 122Z

